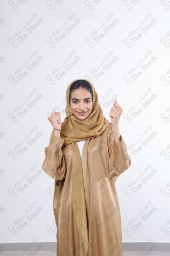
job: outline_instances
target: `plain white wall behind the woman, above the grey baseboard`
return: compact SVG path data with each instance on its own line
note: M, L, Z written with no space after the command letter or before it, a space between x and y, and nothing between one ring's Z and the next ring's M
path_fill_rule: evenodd
M64 120L66 88L79 78L93 82L106 118L114 99L124 110L132 164L116 180L123 242L169 242L168 1L0 5L1 243L56 242L55 181L41 168L47 116Z

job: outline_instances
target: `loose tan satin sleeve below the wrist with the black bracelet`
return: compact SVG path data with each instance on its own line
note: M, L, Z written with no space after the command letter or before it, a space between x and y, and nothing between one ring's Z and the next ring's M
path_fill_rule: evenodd
M52 132L50 144L45 147L45 159L42 164L42 169L51 178L57 182L65 178L66 163L63 157L62 145L64 140L54 136Z

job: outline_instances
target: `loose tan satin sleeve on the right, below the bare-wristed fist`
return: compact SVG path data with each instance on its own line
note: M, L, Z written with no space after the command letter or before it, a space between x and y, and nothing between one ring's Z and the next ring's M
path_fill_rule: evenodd
M131 165L130 157L127 153L127 146L120 135L120 141L114 142L114 131L112 124L109 124L107 133L109 151L109 175L116 180L120 174L125 172Z

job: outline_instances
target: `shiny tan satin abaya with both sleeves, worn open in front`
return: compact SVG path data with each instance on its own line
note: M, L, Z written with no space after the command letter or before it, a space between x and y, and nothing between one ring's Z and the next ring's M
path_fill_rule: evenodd
M109 123L102 134L86 139L82 169L88 225L88 256L122 256L122 223L115 181L131 165L127 146L113 140ZM76 143L62 146L54 136L45 147L42 168L55 179L53 209L57 225L57 256L85 256L71 205L72 180L76 166Z

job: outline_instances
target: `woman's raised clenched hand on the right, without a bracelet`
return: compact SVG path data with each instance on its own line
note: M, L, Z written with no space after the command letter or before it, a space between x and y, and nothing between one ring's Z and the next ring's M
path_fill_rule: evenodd
M122 115L122 112L123 112L123 109L117 103L117 101L114 100L111 111L109 112L109 116L111 117L111 123L113 127L118 126L118 121L119 121L120 115Z

